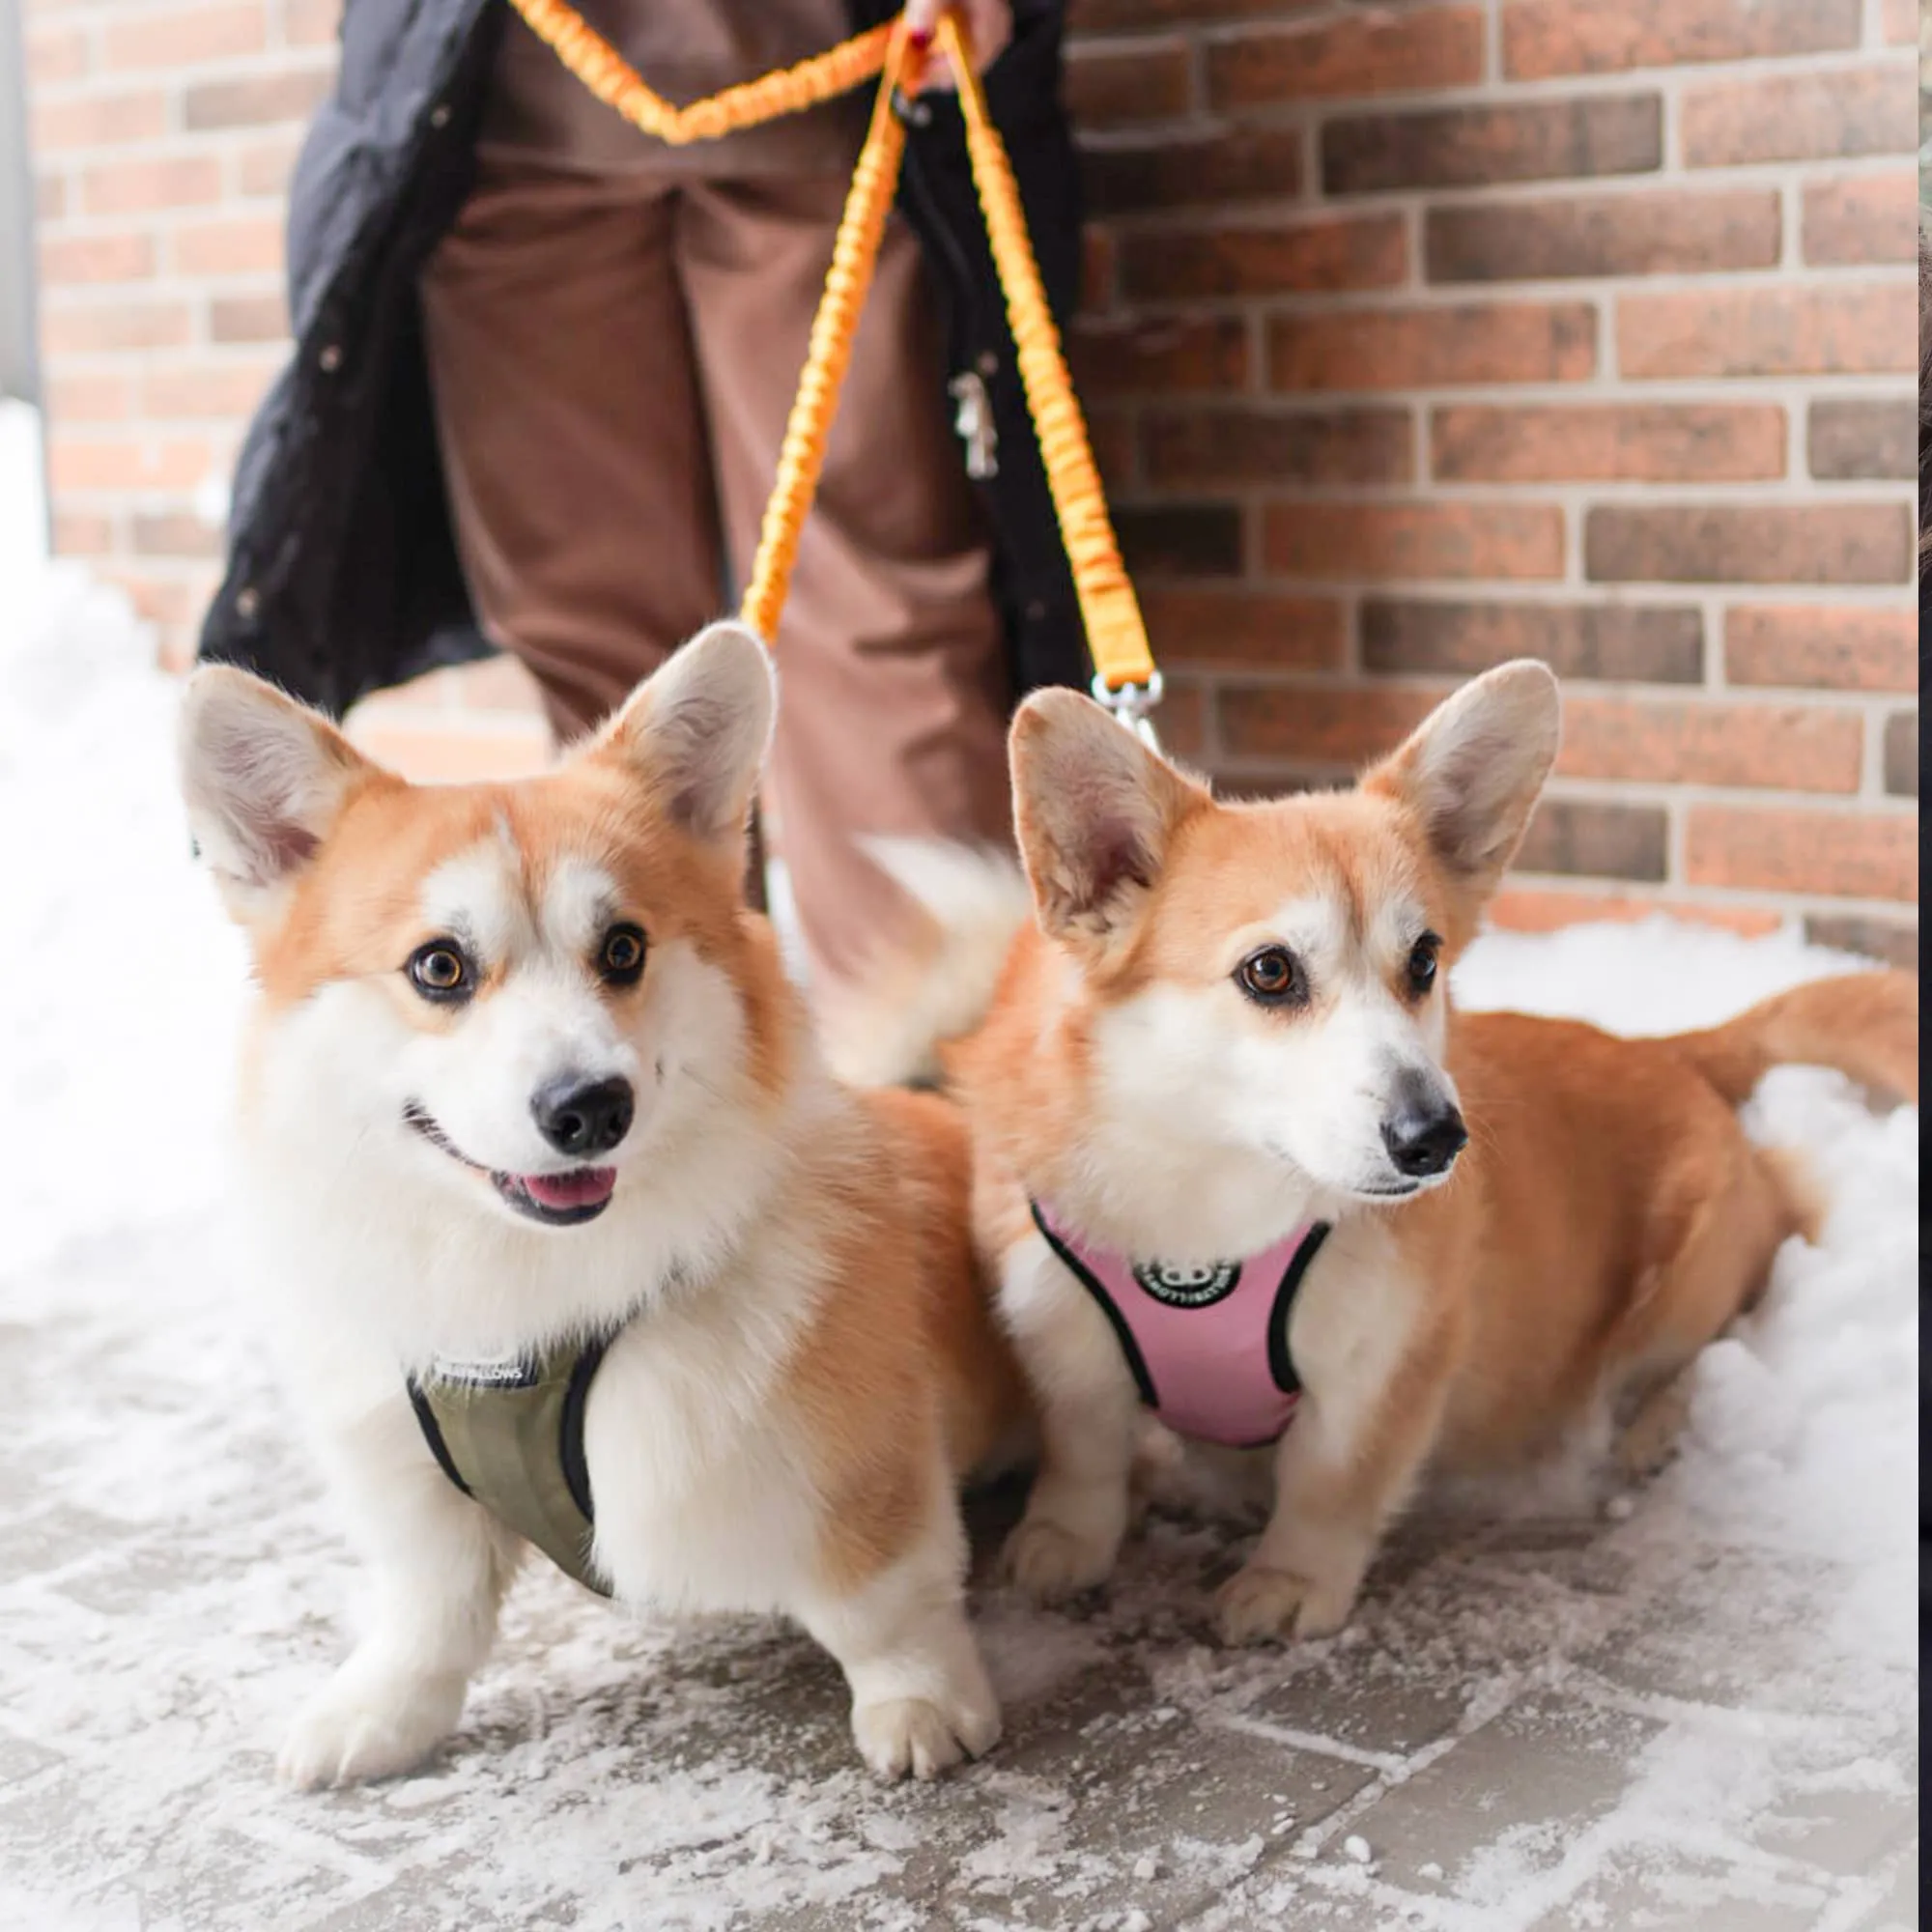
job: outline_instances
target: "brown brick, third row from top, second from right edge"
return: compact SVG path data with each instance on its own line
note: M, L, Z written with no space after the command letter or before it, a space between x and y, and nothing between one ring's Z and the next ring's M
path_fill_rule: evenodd
M1656 189L1430 209L1432 282L1770 269L1783 240L1776 187Z

